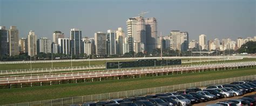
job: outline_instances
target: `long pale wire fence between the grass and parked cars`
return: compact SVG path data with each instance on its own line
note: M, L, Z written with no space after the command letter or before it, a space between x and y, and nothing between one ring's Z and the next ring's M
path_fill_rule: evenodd
M256 75L249 75L249 76L231 77L227 79L219 79L219 80L211 80L211 81L176 84L176 85L156 87L156 88L145 88L145 89L118 91L114 93L59 98L54 100L7 104L2 106L17 106L17 105L18 106L49 106L49 105L57 106L57 105L83 104L85 102L91 102L91 101L103 101L103 100L111 100L114 98L125 98L125 97L134 97L134 96L143 96L148 94L166 93L166 92L183 90L183 89L193 88L193 87L207 87L214 84L226 84L234 81L255 80L255 79L256 79Z

